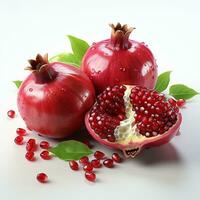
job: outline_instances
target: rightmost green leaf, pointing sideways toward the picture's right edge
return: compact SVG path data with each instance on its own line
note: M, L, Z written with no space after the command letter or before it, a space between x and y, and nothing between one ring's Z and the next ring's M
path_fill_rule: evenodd
M186 85L175 84L170 87L169 94L173 96L175 99L187 100L199 93L193 90L192 88L187 87Z

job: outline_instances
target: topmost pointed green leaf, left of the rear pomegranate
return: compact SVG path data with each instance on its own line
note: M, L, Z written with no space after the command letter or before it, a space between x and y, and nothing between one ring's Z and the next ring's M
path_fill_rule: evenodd
M69 38L75 57L81 63L83 56L85 55L87 49L89 48L89 44L86 41L76 38L72 35L67 35L67 37Z

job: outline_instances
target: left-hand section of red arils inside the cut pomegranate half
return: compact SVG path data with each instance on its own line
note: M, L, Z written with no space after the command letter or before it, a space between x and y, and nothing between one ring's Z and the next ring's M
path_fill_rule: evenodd
M89 122L92 129L102 139L115 142L115 128L125 119L125 86L108 87L97 97L96 105L90 112Z

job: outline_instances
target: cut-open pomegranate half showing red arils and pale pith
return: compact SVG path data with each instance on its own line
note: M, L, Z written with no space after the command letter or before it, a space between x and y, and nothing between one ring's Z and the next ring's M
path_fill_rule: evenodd
M100 143L135 157L144 148L169 142L182 116L163 94L140 86L108 87L85 116L88 132Z

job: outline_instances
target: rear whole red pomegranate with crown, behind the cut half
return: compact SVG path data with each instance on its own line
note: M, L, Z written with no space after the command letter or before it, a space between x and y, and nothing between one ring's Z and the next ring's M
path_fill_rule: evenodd
M157 65L149 48L144 43L129 39L133 28L120 23L110 26L111 38L94 43L81 65L97 93L116 84L154 88Z

